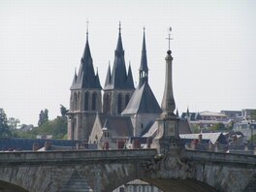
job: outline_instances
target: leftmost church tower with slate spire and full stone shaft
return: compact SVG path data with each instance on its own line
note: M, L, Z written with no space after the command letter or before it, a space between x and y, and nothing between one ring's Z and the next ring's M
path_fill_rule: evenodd
M102 111L101 84L98 72L94 72L86 30L85 48L80 59L80 70L75 72L70 87L70 112L68 122L68 139L88 140L95 116Z

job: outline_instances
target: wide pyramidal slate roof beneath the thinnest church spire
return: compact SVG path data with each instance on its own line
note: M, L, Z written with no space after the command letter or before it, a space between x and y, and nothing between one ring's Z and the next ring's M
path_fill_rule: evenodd
M122 112L122 114L161 112L162 110L159 107L150 86L147 82L144 82L142 87L138 86L134 91L126 109Z

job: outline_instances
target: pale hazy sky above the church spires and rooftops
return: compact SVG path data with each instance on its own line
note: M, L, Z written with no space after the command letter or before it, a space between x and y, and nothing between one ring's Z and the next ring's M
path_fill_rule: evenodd
M69 109L86 38L104 86L121 22L128 68L138 84L143 29L149 85L161 104L169 28L180 112L256 109L254 0L0 0L0 108L37 125Z

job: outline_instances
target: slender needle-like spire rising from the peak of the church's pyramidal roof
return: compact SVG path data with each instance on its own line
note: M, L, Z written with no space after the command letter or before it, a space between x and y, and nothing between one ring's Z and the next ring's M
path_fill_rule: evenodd
M143 50L142 50L142 58L141 58L141 67L140 67L140 86L144 84L144 82L148 80L148 68L147 68L147 59L146 59L146 49L145 49L145 37L143 40Z

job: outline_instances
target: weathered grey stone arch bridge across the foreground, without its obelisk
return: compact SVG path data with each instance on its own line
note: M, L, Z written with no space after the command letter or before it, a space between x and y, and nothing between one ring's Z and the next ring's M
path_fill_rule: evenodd
M256 156L173 149L0 153L0 191L109 192L133 179L163 191L255 191Z

